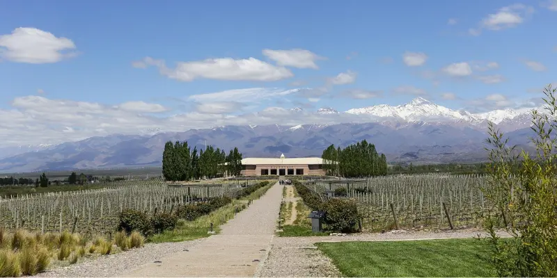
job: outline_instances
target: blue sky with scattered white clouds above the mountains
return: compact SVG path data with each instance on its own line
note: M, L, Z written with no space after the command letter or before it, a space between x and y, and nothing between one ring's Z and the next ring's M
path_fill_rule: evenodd
M0 142L535 106L555 26L557 0L5 1Z

